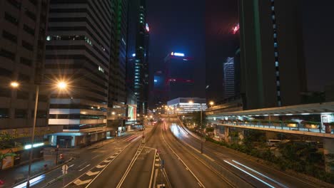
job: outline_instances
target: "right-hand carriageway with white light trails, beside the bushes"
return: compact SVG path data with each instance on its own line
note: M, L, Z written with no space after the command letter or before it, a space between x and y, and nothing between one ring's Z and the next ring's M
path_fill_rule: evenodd
M178 140L187 147L196 150L198 153L200 152L201 141L188 134L178 120L171 122L171 130L174 131ZM212 142L203 143L203 154L211 157L216 164L225 167L231 173L238 174L239 177L254 187L319 187L319 185L309 182L308 179L290 176L277 169L249 160L242 155L238 155L237 152L230 152L225 147Z

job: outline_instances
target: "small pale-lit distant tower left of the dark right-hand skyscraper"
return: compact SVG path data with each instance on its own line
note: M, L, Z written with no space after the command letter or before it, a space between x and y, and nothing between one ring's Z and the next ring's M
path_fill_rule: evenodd
M224 63L224 89L225 98L231 98L236 95L235 93L235 78L234 78L234 58L228 57L226 63Z

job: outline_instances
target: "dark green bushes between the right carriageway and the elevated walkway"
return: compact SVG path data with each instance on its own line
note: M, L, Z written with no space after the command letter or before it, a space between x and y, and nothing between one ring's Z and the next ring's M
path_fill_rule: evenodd
M231 133L232 132L230 132L230 135ZM236 134L238 134L238 132L236 132ZM323 153L318 152L316 147L305 144L305 142L287 142L280 144L278 150L280 150L282 157L276 157L269 148L259 150L254 147L253 142L263 142L263 140L265 140L264 133L258 130L248 132L243 140L243 145L237 143L229 144L224 141L213 140L211 137L206 137L206 140L239 152L244 152L247 155L258 157L268 162L273 162L273 164L276 164L281 170L293 169L297 172L316 177L324 182L334 184L334 174L325 172L323 169L325 163ZM334 159L334 155L327 157ZM334 165L334 162L330 165Z

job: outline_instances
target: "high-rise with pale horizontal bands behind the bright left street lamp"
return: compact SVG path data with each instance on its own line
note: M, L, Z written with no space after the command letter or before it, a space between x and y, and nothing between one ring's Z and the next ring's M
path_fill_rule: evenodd
M56 135L51 143L63 140L63 145L75 146L105 137L111 37L115 37L111 8L107 0L50 2L46 77L66 80L69 89L52 93L49 125L80 132Z

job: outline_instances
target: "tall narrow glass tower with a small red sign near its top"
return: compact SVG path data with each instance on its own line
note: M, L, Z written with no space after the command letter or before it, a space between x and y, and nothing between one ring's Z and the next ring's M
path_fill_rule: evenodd
M139 0L136 31L136 58L134 62L134 92L137 96L137 113L147 113L148 108L148 42L149 27L146 23L146 0Z

